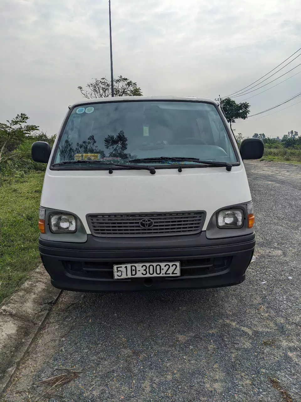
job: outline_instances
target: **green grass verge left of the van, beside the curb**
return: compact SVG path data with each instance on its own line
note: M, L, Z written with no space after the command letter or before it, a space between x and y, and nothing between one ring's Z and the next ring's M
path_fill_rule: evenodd
M39 203L44 172L0 177L0 303L40 263Z

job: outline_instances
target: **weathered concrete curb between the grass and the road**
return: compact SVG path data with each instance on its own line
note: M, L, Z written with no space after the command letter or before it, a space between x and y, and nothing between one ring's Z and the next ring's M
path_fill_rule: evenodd
M39 334L61 290L55 289L43 265L0 304L0 395Z

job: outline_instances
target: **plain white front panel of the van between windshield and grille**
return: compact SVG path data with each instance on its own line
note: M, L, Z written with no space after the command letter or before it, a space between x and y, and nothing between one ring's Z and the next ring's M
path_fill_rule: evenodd
M87 233L87 213L205 210L203 230L222 207L251 200L244 165L148 170L49 170L41 205L76 214Z

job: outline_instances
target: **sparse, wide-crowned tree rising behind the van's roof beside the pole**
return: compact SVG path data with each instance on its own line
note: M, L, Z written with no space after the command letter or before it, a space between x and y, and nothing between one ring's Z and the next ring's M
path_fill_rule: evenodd
M88 82L85 89L83 89L82 86L78 86L77 89L79 89L83 97L87 99L108 98L109 96L112 96L111 82L105 77L100 78L100 80L94 78L94 82ZM142 96L142 92L136 82L119 76L114 80L114 95Z

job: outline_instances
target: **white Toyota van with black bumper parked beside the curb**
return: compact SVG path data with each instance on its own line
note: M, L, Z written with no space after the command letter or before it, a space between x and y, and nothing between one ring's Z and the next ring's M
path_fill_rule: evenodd
M122 97L69 107L47 163L39 250L51 283L75 291L236 285L255 246L240 151L213 100Z

